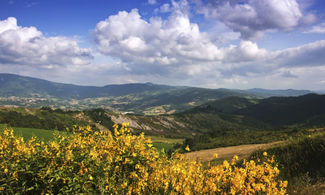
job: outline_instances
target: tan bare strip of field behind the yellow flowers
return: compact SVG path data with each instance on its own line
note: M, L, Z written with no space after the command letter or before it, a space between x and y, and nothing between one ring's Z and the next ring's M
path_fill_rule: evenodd
M207 162L216 159L215 154L218 154L218 159L231 159L234 155L237 155L240 159L248 157L256 150L262 150L274 145L283 143L283 141L272 142L267 144L249 144L240 146L229 146L208 150L200 150L195 152L189 152L185 154L185 157L192 160L199 160L201 162Z

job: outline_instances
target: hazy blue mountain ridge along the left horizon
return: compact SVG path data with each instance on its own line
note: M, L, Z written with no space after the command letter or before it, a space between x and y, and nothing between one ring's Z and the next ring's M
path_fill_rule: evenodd
M0 96L85 99L107 96L123 96L142 92L156 92L176 89L166 85L136 83L124 85L106 85L104 87L62 84L13 74L0 74Z

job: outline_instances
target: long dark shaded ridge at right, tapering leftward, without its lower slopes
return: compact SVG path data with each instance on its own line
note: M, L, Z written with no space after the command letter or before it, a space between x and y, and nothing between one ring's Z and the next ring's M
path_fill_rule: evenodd
M288 125L325 125L325 95L247 99L227 97L211 101L184 113L214 113L235 123L236 118L254 120L270 128ZM237 120L237 122L239 122Z

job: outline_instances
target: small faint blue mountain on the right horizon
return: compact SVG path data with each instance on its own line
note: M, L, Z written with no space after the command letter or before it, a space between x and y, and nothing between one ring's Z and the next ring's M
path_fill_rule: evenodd
M309 90L296 90L296 89L277 89L277 90L272 90L272 89L261 89L261 88L253 88L253 89L247 89L247 90L239 90L242 91L243 93L249 93L252 95L256 96L261 96L261 97L273 97L273 96L301 96L301 95L306 95L308 93L313 93L313 91Z

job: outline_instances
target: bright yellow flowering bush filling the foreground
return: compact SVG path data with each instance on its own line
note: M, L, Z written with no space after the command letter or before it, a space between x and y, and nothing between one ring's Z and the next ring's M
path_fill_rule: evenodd
M204 167L158 152L126 124L113 133L76 127L44 143L0 136L0 193L14 194L285 194L273 159Z

